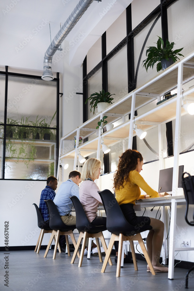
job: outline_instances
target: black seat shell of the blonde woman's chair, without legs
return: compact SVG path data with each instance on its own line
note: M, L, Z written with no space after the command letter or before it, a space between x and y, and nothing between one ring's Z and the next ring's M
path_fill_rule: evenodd
M106 230L106 226L94 226L92 225L87 216L81 202L76 196L70 197L73 202L75 212L76 212L76 228L81 232L88 232L88 233L98 233L100 231Z

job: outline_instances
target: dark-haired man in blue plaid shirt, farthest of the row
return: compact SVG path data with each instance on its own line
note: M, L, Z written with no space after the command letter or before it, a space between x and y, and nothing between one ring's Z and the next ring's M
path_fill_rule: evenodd
M42 190L40 196L39 209L44 221L48 224L49 224L49 212L44 200L48 199L54 200L56 195L55 190L57 189L57 184L58 184L57 178L55 178L54 176L48 177L47 186L45 187L45 189Z

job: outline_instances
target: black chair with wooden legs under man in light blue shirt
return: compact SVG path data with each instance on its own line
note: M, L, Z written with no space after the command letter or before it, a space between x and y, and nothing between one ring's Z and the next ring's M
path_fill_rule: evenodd
M72 242L74 244L74 247L76 247L76 240L75 240L75 237L73 234L73 230L76 228L76 226L75 225L68 226L65 223L63 223L63 221L60 218L60 215L58 213L57 207L56 207L55 203L53 202L53 200L49 199L49 200L44 200L44 201L46 202L48 210L49 210L49 217L50 217L49 226L52 229L51 238L49 240L49 244L48 244L47 249L45 251L44 258L46 258L47 253L49 251L49 248L51 246L51 243L55 237L56 237L56 242L55 242L53 259L56 258L57 246L59 246L58 241L59 241L60 235L65 235L66 244L67 244L67 252L68 252L68 256L70 256L70 246L69 246L68 235L70 235ZM58 250L59 250L59 252L61 252L59 248L58 248ZM78 252L78 258L79 258L79 252Z

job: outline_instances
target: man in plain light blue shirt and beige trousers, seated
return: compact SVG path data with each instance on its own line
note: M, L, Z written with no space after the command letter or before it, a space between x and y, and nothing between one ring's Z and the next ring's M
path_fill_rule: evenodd
M76 196L79 199L79 183L81 182L81 173L72 171L69 174L69 179L63 182L54 198L54 203L58 209L62 221L66 225L75 225L76 217L71 215L72 200L71 196Z

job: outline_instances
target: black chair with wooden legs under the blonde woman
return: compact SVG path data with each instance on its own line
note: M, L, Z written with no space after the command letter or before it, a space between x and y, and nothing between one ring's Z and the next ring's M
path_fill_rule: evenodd
M80 254L80 259L79 259L79 265L78 265L78 267L81 267L82 261L83 261L84 250L86 247L86 239L89 237L95 237L97 249L98 249L98 254L99 254L99 260L100 260L100 262L103 262L102 253L100 250L99 238L102 242L102 246L103 246L104 251L106 253L107 246L106 246L106 242L104 240L104 236L102 233L102 231L106 230L106 226L94 226L94 225L92 225L88 221L86 213L84 212L83 207L82 207L79 199L76 196L72 196L72 197L70 197L70 199L73 202L75 212L76 212L76 228L80 231L77 245L76 245L72 260L71 260L71 264L73 264L75 261L76 254L78 252L79 246L80 246L81 241L83 239L83 244L81 247L81 254ZM111 258L108 260L108 262L109 262L109 265L113 265Z

